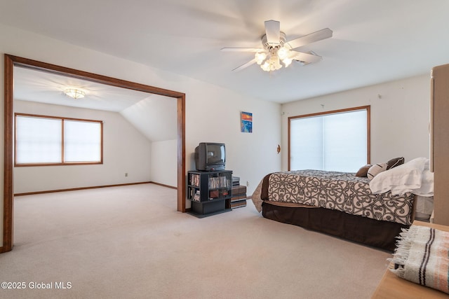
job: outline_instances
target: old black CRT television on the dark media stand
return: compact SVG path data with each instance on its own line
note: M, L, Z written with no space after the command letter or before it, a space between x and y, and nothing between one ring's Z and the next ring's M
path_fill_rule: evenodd
M196 170L213 171L225 170L225 144L201 142L195 148Z

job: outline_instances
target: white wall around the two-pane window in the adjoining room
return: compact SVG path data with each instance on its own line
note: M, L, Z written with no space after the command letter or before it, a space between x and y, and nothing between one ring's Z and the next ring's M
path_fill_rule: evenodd
M15 167L14 193L150 181L151 143L119 113L17 100L13 106L18 113L103 120L102 165Z

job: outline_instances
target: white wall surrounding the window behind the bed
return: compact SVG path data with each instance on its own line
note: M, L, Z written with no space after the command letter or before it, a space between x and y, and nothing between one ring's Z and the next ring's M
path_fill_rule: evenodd
M370 105L372 163L428 158L429 86L430 70L428 75L283 104L283 148L287 150L290 116ZM288 155L283 151L282 169L287 168Z

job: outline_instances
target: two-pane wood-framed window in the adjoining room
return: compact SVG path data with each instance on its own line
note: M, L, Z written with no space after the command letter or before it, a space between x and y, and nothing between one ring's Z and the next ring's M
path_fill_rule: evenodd
M15 166L102 163L101 120L15 113Z

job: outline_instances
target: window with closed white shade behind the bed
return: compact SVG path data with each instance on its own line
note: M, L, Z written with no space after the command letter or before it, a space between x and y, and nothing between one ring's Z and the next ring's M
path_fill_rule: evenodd
M288 169L357 172L370 160L370 106L288 118Z

